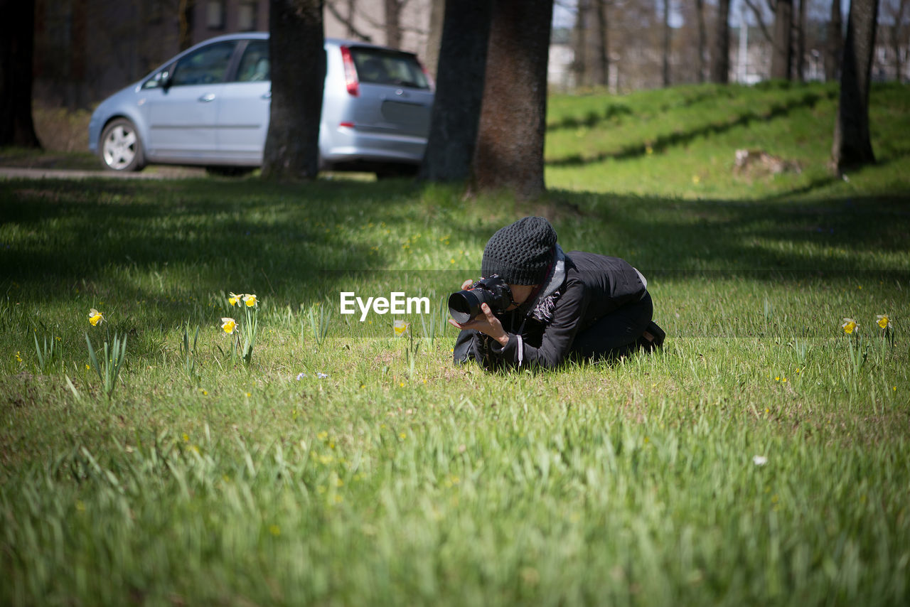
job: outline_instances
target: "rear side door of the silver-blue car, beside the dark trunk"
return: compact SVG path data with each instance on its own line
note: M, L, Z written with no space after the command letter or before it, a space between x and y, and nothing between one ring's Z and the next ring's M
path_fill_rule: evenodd
M271 105L268 40L249 40L236 76L224 85L217 118L217 154L223 161L258 165L266 146Z

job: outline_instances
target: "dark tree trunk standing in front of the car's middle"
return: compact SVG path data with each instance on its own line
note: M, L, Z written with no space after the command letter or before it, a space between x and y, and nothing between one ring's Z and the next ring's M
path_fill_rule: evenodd
M326 75L321 0L270 0L272 100L262 177L319 173L319 116Z

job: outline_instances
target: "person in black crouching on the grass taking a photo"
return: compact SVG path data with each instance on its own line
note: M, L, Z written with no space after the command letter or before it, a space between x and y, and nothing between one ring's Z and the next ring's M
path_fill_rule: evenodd
M522 218L497 231L483 250L480 274L505 281L512 303L502 311L484 303L474 319L449 320L461 329L456 363L472 358L485 369L552 369L569 357L662 345L665 334L652 321L642 273L620 258L563 253L545 218Z

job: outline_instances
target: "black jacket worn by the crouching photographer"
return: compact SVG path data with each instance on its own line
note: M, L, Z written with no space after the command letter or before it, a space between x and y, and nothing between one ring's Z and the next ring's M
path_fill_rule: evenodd
M462 330L455 361L473 356L487 369L550 369L566 358L580 331L640 300L646 290L638 271L621 258L571 251L565 254L564 272L555 290L496 315L509 333L508 344L502 346L479 331Z

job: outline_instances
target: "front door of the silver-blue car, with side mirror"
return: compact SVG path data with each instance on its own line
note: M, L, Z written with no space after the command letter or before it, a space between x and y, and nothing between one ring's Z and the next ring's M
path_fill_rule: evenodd
M200 162L217 154L218 104L237 41L217 42L180 57L147 91L148 156Z

